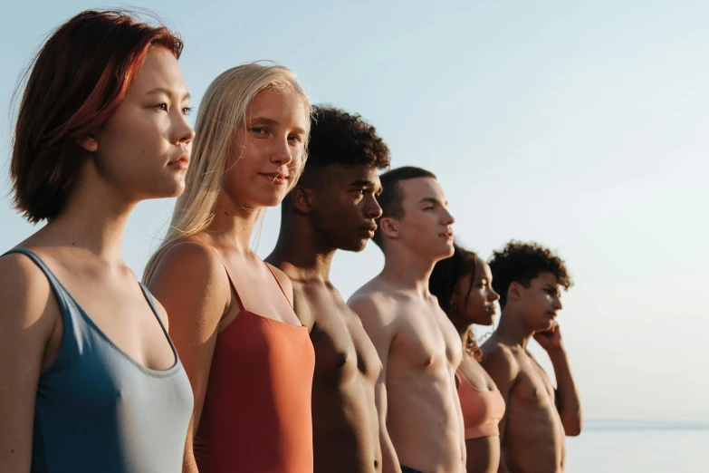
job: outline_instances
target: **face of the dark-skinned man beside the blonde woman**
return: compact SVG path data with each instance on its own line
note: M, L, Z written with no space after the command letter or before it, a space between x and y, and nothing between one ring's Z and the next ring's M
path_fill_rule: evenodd
M381 184L370 166L333 164L322 171L311 193L311 219L332 248L361 251L381 217Z

